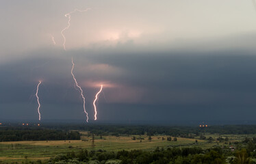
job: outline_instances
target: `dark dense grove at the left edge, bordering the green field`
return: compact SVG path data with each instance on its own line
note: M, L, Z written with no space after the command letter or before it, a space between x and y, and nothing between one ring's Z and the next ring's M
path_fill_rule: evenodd
M80 139L77 131L46 128L0 128L0 141L47 141Z

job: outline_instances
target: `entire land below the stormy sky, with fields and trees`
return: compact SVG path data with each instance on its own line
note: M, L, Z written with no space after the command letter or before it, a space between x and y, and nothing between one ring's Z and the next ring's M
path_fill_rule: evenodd
M0 161L255 163L255 134L256 125L2 124Z

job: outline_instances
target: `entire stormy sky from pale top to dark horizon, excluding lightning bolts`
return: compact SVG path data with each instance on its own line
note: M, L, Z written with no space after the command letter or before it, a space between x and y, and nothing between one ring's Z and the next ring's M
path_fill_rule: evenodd
M85 120L72 57L90 122L101 84L99 121L256 120L256 14L220 2L1 1L0 120L38 119L39 80L42 120Z

